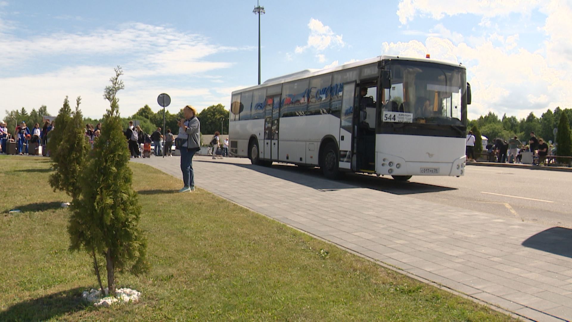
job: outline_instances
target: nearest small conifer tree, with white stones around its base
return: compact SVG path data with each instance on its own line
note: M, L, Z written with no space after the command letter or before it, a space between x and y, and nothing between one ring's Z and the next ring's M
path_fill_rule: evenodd
M132 188L129 150L121 127L116 94L124 88L117 66L112 85L104 97L110 108L104 116L101 135L80 177L80 197L72 205L68 232L72 250L84 249L92 254L101 284L97 257L106 261L109 294L115 296L115 273L128 269L142 273L146 264L146 239L138 227L141 207ZM102 288L103 289L103 288Z

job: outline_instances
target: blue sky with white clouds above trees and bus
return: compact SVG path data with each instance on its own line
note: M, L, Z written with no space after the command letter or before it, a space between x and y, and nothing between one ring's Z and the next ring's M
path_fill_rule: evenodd
M263 1L262 80L382 54L462 62L469 116L572 107L572 1ZM169 93L169 110L229 104L257 82L256 2L0 0L0 111L81 95L106 109L114 66L131 115ZM3 115L3 114L0 114Z

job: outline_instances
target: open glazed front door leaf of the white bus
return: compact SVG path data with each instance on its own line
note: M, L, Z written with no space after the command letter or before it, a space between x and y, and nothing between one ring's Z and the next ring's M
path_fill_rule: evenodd
M338 142L340 143L339 167L342 169L351 169L355 87L355 81L345 83L341 95L340 137Z

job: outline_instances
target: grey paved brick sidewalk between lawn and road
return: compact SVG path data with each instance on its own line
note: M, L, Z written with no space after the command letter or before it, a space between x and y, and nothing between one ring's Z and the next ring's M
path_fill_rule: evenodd
M181 180L177 157L135 161ZM572 320L570 230L251 166L247 159L197 156L193 166L198 187L353 252L531 320Z

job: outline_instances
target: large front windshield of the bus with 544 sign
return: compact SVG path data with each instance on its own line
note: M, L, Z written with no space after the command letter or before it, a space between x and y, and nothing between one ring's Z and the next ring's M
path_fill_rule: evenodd
M467 90L463 68L431 62L391 61L381 122L464 125Z

